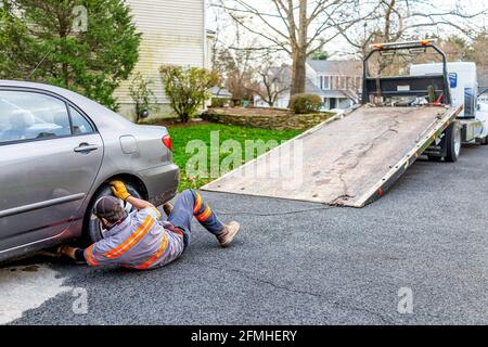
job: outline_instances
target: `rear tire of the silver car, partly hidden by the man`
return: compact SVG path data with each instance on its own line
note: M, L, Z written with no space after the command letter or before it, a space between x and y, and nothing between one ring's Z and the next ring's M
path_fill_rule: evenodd
M131 183L125 182L127 191L130 193L130 195L142 198L141 193L137 190L136 187L133 187ZM100 224L100 221L97 219L97 217L92 214L92 210L94 208L94 204L103 196L110 196L112 194L112 189L108 184L102 185L93 195L90 205L88 205L87 213L85 215L85 221L84 221L84 232L82 232L82 244L84 246L89 246L100 240L103 239L102 235L102 228ZM129 203L124 203L126 206L126 209L128 211L133 210L133 207Z

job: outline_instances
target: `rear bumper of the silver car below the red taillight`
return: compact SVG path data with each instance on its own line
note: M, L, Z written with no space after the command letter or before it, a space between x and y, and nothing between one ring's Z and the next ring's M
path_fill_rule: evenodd
M147 189L149 201L154 206L163 205L175 197L180 181L180 169L175 164L139 171Z

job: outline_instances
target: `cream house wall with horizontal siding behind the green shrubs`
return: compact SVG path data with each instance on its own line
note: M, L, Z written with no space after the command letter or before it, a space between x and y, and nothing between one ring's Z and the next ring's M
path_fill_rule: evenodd
M209 40L206 30L206 0L126 0L131 9L133 23L142 34L139 62L133 74L140 72L153 80L152 89L157 98L157 115L171 112L164 93L159 67L164 64L208 68L210 65ZM132 75L133 76L133 75ZM136 107L130 98L132 77L116 90L120 114L133 118ZM152 112L155 116L156 112Z

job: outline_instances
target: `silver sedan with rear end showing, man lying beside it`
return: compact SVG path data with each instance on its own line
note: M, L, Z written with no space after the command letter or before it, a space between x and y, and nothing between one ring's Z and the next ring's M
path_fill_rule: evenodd
M92 208L113 179L156 206L169 201L179 182L171 150L164 127L134 125L65 89L0 80L0 261L99 241Z

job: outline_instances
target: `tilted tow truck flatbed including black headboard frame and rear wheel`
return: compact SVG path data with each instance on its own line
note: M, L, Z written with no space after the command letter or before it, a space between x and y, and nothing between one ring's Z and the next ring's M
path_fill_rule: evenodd
M455 162L462 142L458 116L463 105L451 105L444 52L433 41L422 41L377 46L371 54L427 48L441 55L442 74L370 77L367 57L362 105L203 190L363 207L380 198L422 154L433 160Z

